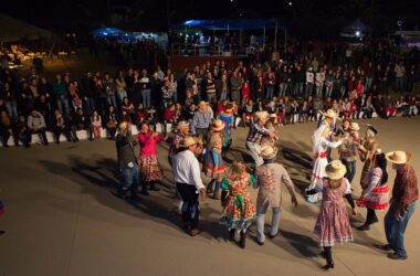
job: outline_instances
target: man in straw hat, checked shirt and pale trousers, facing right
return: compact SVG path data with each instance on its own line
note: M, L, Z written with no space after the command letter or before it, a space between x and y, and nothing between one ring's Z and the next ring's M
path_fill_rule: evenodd
M252 159L255 161L255 168L264 163L260 156L261 138L264 135L269 135L272 138L275 137L274 132L265 128L267 117L269 114L266 112L256 112L246 137L246 149L249 150Z

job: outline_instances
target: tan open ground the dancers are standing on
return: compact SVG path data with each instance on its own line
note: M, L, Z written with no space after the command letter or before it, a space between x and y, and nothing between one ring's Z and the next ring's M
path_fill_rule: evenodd
M359 121L360 124L367 121ZM420 173L418 146L420 117L372 119L384 151L409 150L411 163ZM284 163L296 189L308 184L309 137L315 124L281 128L279 161ZM363 125L360 134L365 131ZM233 131L229 159L250 161L244 150L246 130ZM141 197L137 205L112 194L118 184L115 145L108 140L63 142L30 149L0 148L0 198L6 214L0 219L0 275L322 275L324 259L317 237L312 234L318 205L304 202L292 208L283 189L281 234L264 246L254 241L251 227L246 248L229 240L218 224L221 206L207 199L201 205L203 233L190 237L174 213L171 172L167 163L168 145L160 145L165 170L162 189ZM395 171L388 166L390 185ZM361 163L358 162L354 195ZM206 180L206 179L204 179ZM253 191L255 198L255 191ZM355 242L333 250L333 275L414 275L420 265L420 219L417 211L406 233L407 261L388 259L374 243L384 243L382 219L368 232L354 230ZM266 222L270 222L270 213ZM366 210L359 209L355 225Z

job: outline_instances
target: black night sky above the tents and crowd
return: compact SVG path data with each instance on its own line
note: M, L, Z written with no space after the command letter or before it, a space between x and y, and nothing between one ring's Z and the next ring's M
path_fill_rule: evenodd
M129 8L125 28L151 31L188 19L270 17L307 34L308 25L322 33L319 29L328 32L357 18L378 32L397 29L398 20L406 29L420 29L418 0L12 0L2 3L1 10L43 28L66 31L109 25L111 14L124 7Z

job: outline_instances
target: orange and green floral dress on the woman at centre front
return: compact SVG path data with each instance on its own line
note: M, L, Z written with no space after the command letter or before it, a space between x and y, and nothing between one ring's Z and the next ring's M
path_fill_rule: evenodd
M237 180L229 180L229 198L220 217L220 224L229 230L245 232L255 217L255 206L251 200L249 188L254 178L244 173Z

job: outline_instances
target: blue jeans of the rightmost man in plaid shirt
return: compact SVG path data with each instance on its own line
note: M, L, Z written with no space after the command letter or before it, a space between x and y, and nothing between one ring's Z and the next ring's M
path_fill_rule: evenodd
M411 203L407 208L407 212L402 214L401 220L397 221L393 217L393 213L397 210L395 202L389 206L388 213L385 215L385 234L389 246L399 255L407 256L406 248L403 247L403 234L407 229L408 221L416 210L416 202Z

